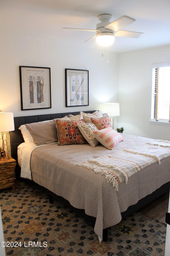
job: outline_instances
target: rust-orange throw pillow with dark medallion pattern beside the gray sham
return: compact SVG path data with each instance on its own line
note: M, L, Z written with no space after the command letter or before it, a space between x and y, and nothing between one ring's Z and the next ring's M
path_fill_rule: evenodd
M77 124L84 123L84 120L78 121L60 121L56 120L56 128L58 132L59 146L72 144L87 143L83 135L80 133Z

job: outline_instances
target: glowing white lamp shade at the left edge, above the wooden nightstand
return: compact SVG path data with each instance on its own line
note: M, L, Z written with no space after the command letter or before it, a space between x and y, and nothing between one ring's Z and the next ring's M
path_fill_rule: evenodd
M14 131L13 113L0 113L0 132Z

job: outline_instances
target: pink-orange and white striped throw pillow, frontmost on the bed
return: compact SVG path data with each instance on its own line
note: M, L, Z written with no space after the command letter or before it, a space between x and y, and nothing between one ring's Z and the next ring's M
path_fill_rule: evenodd
M113 149L117 143L123 141L122 135L108 126L99 131L93 131L93 133L95 138L107 149Z

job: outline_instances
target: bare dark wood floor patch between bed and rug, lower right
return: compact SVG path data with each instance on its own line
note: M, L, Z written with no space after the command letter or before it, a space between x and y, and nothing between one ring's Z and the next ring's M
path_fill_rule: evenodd
M146 214L148 217L151 217L153 219L156 219L157 221L160 221L166 224L165 215L168 212L168 204L169 204L169 192L158 197L153 202L141 208L139 211L141 213Z

